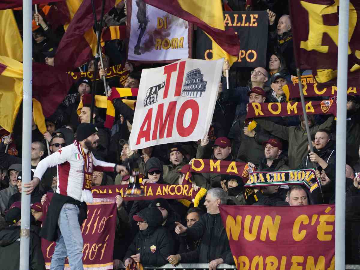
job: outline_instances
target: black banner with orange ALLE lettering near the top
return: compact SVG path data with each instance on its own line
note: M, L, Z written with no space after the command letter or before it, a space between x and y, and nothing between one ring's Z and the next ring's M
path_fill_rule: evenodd
M224 11L225 29L233 28L240 40L239 59L234 67L266 66L268 15L266 11ZM196 58L212 59L212 42L202 31L197 30Z

